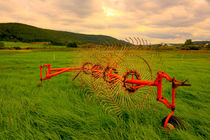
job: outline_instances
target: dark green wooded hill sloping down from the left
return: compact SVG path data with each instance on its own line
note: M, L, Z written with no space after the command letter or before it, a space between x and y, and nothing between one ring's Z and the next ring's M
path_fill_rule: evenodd
M0 23L0 41L51 42L55 45L65 45L68 42L99 44L103 41L111 42L116 40L113 37L105 35L56 31L21 23Z

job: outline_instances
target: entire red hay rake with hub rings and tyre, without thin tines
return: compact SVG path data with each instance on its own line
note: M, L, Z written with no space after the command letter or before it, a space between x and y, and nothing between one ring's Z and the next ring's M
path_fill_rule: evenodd
M91 65L90 65L91 64ZM44 76L43 76L44 70ZM78 71L78 73L74 76L72 80L74 80L80 73L89 74L90 76L94 76L95 78L103 78L108 83L111 82L119 82L122 83L122 88L124 88L128 94L136 92L138 89L145 86L155 86L157 87L157 101L162 102L168 109L171 110L169 115L165 117L162 121L162 126L164 128L169 128L169 124L174 127L184 128L181 120L172 116L175 110L175 89L179 86L191 86L190 84L186 84L186 81L178 81L175 78L171 78L164 71L158 71L157 77L154 81L142 80L139 76L139 73L135 70L129 70L125 73L124 76L120 76L117 72L117 68L111 68L109 66L101 67L98 65L92 65L90 62L84 63L81 67L68 67L68 68L56 68L52 69L50 64L45 64L40 66L40 83L42 84L43 80L50 79L53 76L59 75L64 72ZM128 79L128 77L132 77ZM162 96L162 79L166 79L167 81L172 83L172 102L169 102L166 98Z

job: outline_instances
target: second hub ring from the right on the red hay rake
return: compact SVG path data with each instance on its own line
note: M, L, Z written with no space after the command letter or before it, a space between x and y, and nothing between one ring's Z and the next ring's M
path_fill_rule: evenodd
M109 74L118 74L117 69L114 67L107 66L103 71L103 79L107 83L114 83L116 82L116 78L110 78Z

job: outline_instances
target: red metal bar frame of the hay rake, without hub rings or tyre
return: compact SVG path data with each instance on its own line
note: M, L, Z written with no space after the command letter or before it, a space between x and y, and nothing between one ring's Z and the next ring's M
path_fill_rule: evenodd
M45 72L45 77L42 78L42 69L44 68L44 72ZM90 69L90 68L85 68L85 69ZM42 84L43 80L47 80L50 79L53 76L59 75L61 73L64 72L70 72L73 70L78 70L79 72L75 75L75 77L72 79L74 80L79 73L82 71L82 67L69 67L69 68L56 68L56 69L51 69L51 65L50 64L45 64L40 66L40 84ZM53 73L52 73L53 72ZM93 70L93 72L97 72L97 73L102 73L102 70ZM113 78L114 80L118 79L120 81L123 81L123 77L118 75L118 74L112 74L110 73L108 75L108 77ZM165 97L162 96L162 79L166 79L169 82L172 82L172 102L170 103ZM125 82L132 84L132 88L134 88L135 90L144 87L144 86L156 86L157 87L157 101L162 102L166 107L168 107L169 109L171 109L171 112L169 113L169 115L167 116L165 123L164 123L164 128L166 128L167 123L170 119L170 117L173 115L174 110L175 110L175 89L179 86L191 86L190 84L185 84L187 80L185 81L178 81L175 78L171 78L169 75L167 75L165 72L163 71L158 71L157 72L157 78L155 79L155 81L144 81L144 80L135 80L133 78L132 75L132 79L126 79ZM134 84L136 84L137 86L134 87Z

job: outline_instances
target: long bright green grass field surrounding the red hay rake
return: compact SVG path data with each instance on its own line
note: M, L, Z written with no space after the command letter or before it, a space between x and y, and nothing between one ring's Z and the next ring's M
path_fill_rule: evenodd
M73 66L80 61L79 53L0 51L0 139L210 139L210 53L160 52L164 70L192 84L176 90L175 116L186 130L169 134L160 125L169 113L161 103L153 110L117 117L83 96L80 81L71 81L73 73L36 87L39 65ZM170 91L163 94L171 97Z

